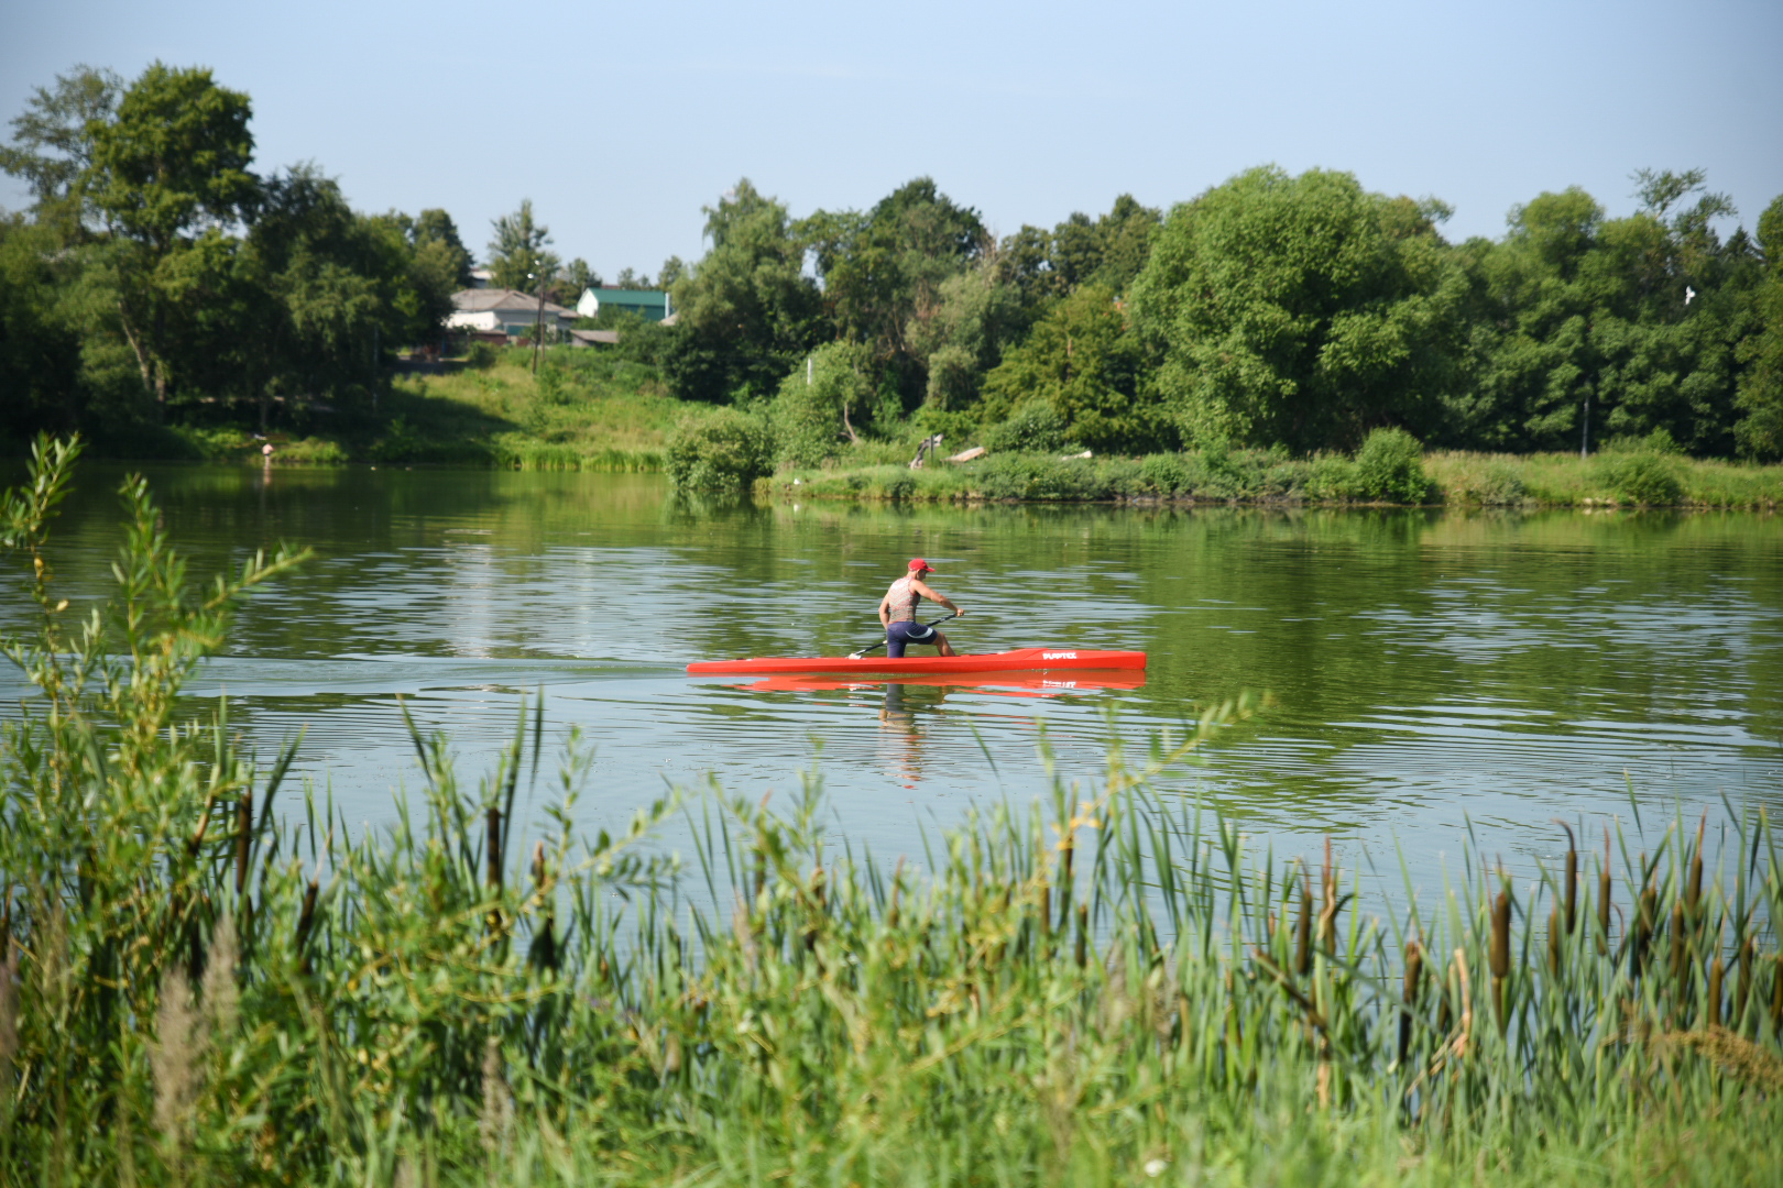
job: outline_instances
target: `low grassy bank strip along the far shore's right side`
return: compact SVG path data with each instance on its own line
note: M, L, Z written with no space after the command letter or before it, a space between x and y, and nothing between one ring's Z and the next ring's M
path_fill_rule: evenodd
M877 460L875 460L877 461ZM1412 495L1410 492L1417 492ZM1430 452L1421 476L1371 477L1357 458L1189 451L1145 458L991 454L922 470L899 463L793 468L756 481L774 499L902 502L1448 504L1487 508L1676 506L1774 511L1783 467L1630 449L1576 454Z

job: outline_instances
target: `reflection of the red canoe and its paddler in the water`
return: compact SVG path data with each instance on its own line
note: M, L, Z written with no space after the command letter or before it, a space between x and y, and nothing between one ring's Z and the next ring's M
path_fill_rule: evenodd
M922 780L924 718L940 711L950 693L970 689L993 696L1052 698L1097 689L1138 689L1143 684L1145 670L1082 668L1059 671L934 673L925 677L781 673L735 688L749 693L867 693L870 689L883 689L879 728L883 730L883 737L893 743L893 753L888 755L888 761L899 784L913 789Z

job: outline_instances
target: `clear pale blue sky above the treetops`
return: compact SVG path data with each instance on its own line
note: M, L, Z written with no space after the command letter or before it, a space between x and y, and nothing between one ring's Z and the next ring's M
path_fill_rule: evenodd
M998 235L1271 162L1441 198L1457 240L1567 185L1628 214L1639 167L1706 169L1746 226L1783 194L1783 0L7 9L5 119L80 62L207 66L251 96L262 173L444 207L480 258L531 198L608 280L697 260L701 208L744 176L795 217L933 176Z

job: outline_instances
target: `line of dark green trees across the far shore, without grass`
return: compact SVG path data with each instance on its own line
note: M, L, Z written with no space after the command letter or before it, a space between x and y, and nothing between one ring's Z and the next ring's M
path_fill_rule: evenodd
M367 216L314 166L250 169L248 96L209 71L39 87L0 167L0 427L107 436L168 417L364 408L390 351L439 338L472 256L444 210ZM997 237L929 178L795 217L742 180L706 253L629 269L678 324L628 351L683 399L770 411L788 460L863 435L1002 447L1564 451L1626 440L1783 456L1783 198L1738 217L1701 171L1640 169L1637 210L1582 189L1451 242L1437 199L1277 167L1150 208ZM531 203L492 283L574 301Z

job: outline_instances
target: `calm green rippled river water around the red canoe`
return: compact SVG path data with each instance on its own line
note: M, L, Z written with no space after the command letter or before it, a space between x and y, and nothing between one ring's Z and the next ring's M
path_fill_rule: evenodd
M57 538L84 591L118 547L121 470L86 467ZM492 766L517 696L596 748L578 805L612 825L708 773L785 796L818 769L838 835L895 857L970 803L1045 787L1045 741L1093 780L1241 689L1277 705L1168 780L1277 855L1330 834L1419 880L1467 821L1487 851L1555 851L1555 816L1783 807L1783 524L1756 515L699 509L654 476L152 468L207 572L280 540L316 561L259 595L201 698L349 821L417 782L398 696ZM963 604L963 650L1143 648L1141 688L742 688L694 659L842 654L877 638L904 561ZM18 588L16 575L5 582ZM18 598L7 598L16 613ZM4 677L11 698L16 677ZM194 702L194 709L203 704ZM820 757L817 755L822 748ZM1647 816L1647 828L1653 818Z

